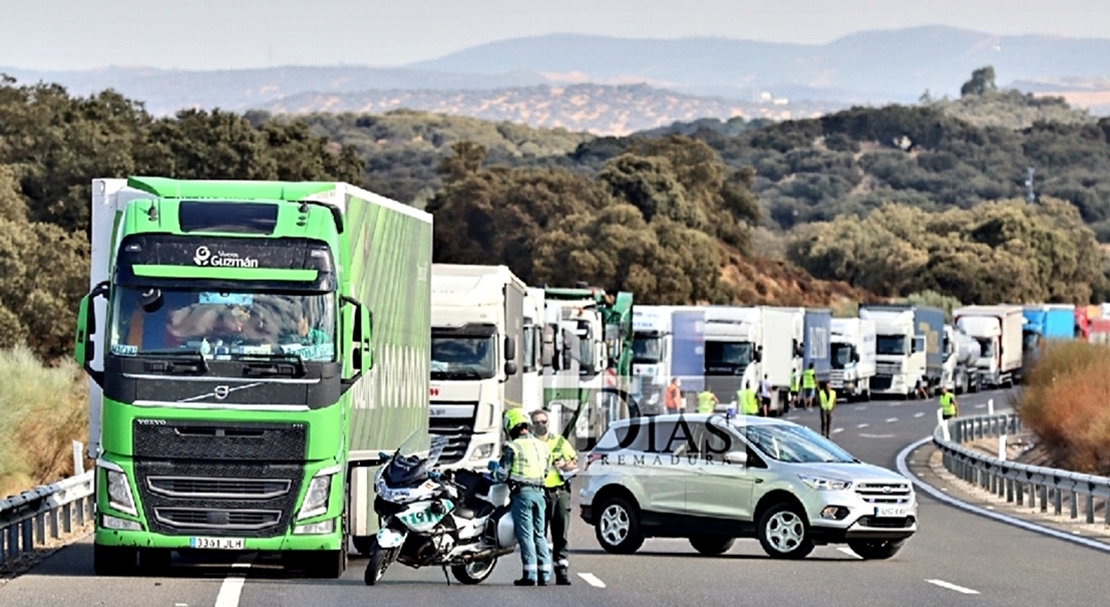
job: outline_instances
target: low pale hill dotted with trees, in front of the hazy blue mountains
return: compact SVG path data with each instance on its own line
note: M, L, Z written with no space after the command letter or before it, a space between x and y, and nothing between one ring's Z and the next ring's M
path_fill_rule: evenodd
M273 113L384 113L407 108L534 128L563 128L598 135L627 135L705 118L814 118L842 109L831 103L754 103L692 97L645 84L518 87L491 91L366 91L301 93L261 107Z

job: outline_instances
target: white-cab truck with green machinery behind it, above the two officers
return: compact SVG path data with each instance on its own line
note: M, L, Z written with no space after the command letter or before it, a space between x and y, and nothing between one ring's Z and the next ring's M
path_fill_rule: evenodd
M553 362L544 406L556 427L593 448L609 422L636 413L632 387L633 294L602 289L544 289L544 341Z

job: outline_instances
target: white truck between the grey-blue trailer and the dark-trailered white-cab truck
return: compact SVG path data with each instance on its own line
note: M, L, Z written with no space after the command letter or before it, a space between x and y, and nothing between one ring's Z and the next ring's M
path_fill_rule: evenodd
M833 318L831 333L829 385L848 402L870 401L876 368L875 321Z

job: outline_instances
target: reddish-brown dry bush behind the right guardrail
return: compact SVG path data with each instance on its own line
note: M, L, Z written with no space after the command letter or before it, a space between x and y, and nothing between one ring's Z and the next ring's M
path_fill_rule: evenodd
M1053 464L1110 475L1110 350L1051 342L1015 402Z

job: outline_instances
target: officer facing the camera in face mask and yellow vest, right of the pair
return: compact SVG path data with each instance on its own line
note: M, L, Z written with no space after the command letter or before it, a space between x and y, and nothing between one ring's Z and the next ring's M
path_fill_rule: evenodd
M547 502L547 526L552 532L555 584L569 586L567 535L571 530L571 474L578 468L578 454L569 441L551 432L546 411L532 412L532 428L535 437L543 441L551 452L551 467L544 478L544 497Z

